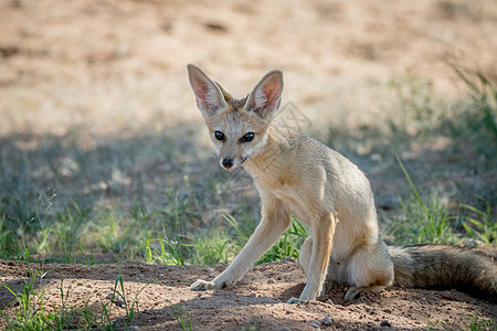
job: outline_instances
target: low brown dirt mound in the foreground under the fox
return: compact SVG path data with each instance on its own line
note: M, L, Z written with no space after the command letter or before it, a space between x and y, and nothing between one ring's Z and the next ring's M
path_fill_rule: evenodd
M31 264L31 273L44 275L34 286L44 289L45 309L66 307L94 311L107 306L110 318L126 317L125 302L113 299L118 275L126 303L135 305L133 324L139 330L180 330L177 318L190 320L193 330L412 330L468 329L479 319L497 318L497 307L456 290L433 291L391 288L380 295L366 293L345 303L345 287L337 287L319 301L288 305L298 296L305 277L293 259L252 268L225 290L193 292L197 278L210 279L225 266L158 266L138 261L109 265ZM36 274L36 273L34 273ZM0 281L14 291L29 281L25 263L0 260ZM61 291L61 285L63 291ZM117 290L120 291L120 285ZM67 293L68 291L68 293ZM0 308L12 314L12 295L0 289Z

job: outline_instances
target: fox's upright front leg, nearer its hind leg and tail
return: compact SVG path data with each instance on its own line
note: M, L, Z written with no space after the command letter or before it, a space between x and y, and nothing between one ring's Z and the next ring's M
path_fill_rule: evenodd
M334 214L327 214L318 217L311 225L313 250L310 254L310 263L305 270L307 282L300 297L298 299L290 298L288 303L316 300L322 289L337 221Z

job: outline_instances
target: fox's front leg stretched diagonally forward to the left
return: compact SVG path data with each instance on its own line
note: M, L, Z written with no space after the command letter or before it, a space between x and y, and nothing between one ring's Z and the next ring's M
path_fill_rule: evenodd
M272 199L271 203L266 203L266 205L264 205L264 202L263 199L263 217L261 223L228 269L212 281L197 280L190 286L190 289L195 291L221 289L239 281L248 268L273 246L288 227L290 218L279 201Z

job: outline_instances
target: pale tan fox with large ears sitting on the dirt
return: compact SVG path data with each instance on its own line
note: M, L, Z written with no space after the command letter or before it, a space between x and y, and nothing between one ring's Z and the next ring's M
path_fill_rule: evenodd
M366 174L326 145L274 121L283 72L269 71L242 99L232 97L199 66L188 78L226 171L243 167L261 199L261 221L228 268L194 291L234 285L271 248L295 216L309 229L298 263L306 285L288 303L313 301L332 284L345 284L345 301L387 287L458 288L496 295L495 260L448 245L387 246L380 237L374 196Z

